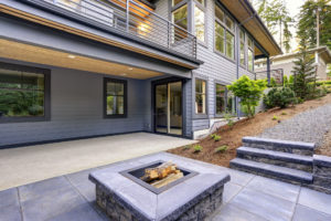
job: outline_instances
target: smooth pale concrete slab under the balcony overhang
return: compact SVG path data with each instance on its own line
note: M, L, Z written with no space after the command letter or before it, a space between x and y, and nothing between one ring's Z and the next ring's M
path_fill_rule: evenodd
M0 149L0 190L192 143L194 140L135 133Z

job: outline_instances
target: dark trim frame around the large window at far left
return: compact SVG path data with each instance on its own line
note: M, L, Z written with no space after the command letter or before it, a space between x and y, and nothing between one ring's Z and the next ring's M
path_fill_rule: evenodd
M51 120L51 70L4 62L0 62L0 67L44 75L44 116L6 117L0 115L0 124Z

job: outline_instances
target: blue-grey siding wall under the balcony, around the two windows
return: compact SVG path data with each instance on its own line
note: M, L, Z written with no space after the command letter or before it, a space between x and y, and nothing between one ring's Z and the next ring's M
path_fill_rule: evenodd
M51 120L0 124L0 146L145 129L145 120L150 116L147 112L150 91L145 81L128 80L127 118L105 119L105 75L67 69L51 70Z

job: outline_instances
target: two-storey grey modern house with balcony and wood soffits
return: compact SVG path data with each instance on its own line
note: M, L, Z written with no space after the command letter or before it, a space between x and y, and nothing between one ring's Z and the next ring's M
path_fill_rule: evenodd
M248 0L0 0L0 147L193 138L281 50Z

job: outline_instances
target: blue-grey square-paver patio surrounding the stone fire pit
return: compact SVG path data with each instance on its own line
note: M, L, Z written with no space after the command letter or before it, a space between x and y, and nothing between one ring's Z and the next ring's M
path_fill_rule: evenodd
M180 157L179 157L180 158ZM200 162L204 164L204 162ZM107 166L105 166L107 167ZM106 221L88 169L0 192L0 220ZM209 221L330 221L331 196L220 167L231 175Z

